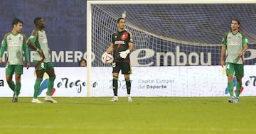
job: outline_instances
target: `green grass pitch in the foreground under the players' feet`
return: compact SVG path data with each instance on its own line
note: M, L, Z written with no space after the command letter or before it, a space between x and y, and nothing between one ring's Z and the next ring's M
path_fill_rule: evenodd
M43 98L39 98L43 101ZM55 97L58 104L0 98L0 133L256 133L256 98L240 97Z

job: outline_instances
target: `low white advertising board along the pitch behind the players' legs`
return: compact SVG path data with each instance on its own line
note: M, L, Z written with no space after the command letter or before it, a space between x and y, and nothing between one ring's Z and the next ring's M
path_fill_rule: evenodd
M245 66L241 96L256 95L255 66ZM53 96L87 96L86 67L55 67ZM227 77L220 66L132 67L132 96L229 96ZM0 96L12 96L0 68ZM33 67L23 68L20 96L33 96ZM48 76L43 77L39 96L46 96ZM235 89L234 80L234 89ZM127 96L124 75L119 74L118 95ZM92 67L92 96L112 96L112 67Z

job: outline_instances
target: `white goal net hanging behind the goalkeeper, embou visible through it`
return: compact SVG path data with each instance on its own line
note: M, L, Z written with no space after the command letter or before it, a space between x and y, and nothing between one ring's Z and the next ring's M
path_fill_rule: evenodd
M93 67L107 66L100 58L117 30L117 18L124 12L126 28L134 37L133 66L219 65L221 40L223 33L230 30L232 18L240 19L240 30L247 33L250 42L245 64L255 65L255 3L138 2L98 1L90 5L91 16L87 18L91 18Z

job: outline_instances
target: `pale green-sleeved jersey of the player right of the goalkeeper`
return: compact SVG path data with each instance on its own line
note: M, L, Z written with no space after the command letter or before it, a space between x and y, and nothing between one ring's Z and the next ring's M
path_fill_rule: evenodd
M238 56L238 52L242 50L243 45L248 44L248 39L245 36L245 33L238 31L238 33L233 34L231 31L227 32L223 36L222 40L223 45L226 45L226 59L225 62L243 64L244 57Z

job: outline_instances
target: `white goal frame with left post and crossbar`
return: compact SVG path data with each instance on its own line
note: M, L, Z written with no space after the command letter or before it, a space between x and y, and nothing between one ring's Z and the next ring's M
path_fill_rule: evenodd
M118 3L117 3L118 1ZM255 4L252 0L87 0L87 97L92 94L92 5L94 4Z

